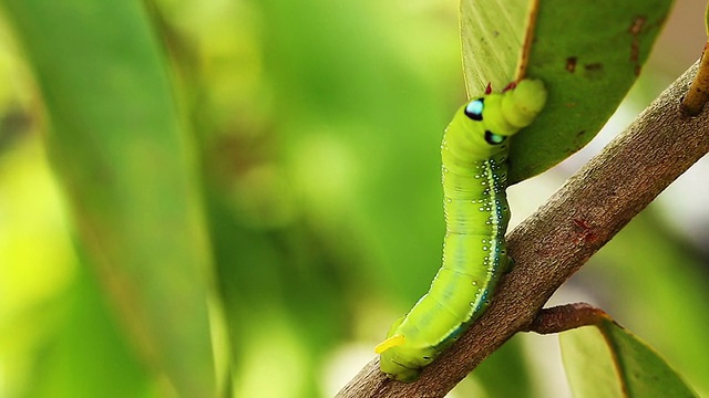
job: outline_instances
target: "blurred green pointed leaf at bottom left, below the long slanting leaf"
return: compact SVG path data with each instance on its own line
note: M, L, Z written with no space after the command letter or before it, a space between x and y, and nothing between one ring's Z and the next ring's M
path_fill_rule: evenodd
M61 326L39 356L29 397L145 397L153 380L120 333L86 271L58 301Z

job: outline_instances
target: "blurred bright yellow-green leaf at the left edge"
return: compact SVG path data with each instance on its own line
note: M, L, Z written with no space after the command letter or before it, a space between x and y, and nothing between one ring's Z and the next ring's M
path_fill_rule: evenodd
M39 136L0 155L0 396L20 397L56 332L75 254ZM41 248L41 250L38 250Z

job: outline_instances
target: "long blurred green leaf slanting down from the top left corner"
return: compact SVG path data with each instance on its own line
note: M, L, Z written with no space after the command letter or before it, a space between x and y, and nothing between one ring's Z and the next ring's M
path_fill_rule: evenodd
M53 166L104 286L178 394L214 396L210 261L192 148L142 2L2 4L39 81Z

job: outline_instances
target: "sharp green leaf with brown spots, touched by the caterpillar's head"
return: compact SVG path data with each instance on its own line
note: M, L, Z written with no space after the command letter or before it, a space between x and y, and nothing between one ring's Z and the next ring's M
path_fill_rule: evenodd
M528 77L549 92L537 121L515 136L510 182L535 176L584 147L616 111L641 71L671 0L462 0L464 73L469 93L516 80L527 22L536 12ZM603 27L603 29L599 29Z

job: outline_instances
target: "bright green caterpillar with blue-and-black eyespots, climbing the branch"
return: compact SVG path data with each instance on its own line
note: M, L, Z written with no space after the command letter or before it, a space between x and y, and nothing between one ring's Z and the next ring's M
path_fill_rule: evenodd
M534 121L547 93L536 80L491 92L489 86L483 97L462 106L443 135L443 266L374 349L381 370L400 381L415 380L480 317L510 264L507 138Z

